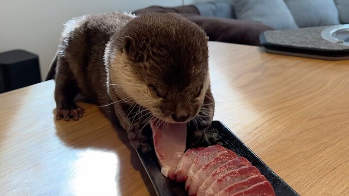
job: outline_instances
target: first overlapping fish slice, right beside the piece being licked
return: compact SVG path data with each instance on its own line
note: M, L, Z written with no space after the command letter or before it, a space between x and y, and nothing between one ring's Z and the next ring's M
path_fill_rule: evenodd
M176 175L177 182L184 182L187 180L187 173L188 173L190 164L193 162L196 155L204 149L205 147L197 147L197 148L189 149L184 153L182 158L179 160L177 169L174 173Z

